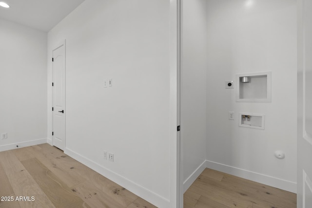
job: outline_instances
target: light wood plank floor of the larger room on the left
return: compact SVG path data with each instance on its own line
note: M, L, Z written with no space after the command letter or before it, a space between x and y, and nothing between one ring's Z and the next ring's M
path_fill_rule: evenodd
M0 208L155 208L48 144L0 152L1 196L14 200Z

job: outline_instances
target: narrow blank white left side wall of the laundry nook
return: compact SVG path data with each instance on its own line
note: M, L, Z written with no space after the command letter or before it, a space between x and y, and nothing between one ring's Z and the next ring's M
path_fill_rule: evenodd
M206 0L184 0L182 14L181 140L187 190L206 160Z

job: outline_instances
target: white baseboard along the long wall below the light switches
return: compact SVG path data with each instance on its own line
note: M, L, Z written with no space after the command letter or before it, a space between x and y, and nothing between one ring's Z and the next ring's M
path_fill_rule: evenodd
M114 181L115 183L122 186L123 188L128 189L129 191L133 192L134 194L143 198L144 200L150 202L156 207L169 208L170 201L162 196L159 196L153 191L145 189L144 187L136 184L135 182L117 174L116 172L112 170L108 170L107 168L99 165L98 163L95 163L92 160L68 148L65 148L64 153L74 158L75 160L79 161L80 163L84 164L85 166L91 168L92 170L97 171L99 174L105 176L106 178Z

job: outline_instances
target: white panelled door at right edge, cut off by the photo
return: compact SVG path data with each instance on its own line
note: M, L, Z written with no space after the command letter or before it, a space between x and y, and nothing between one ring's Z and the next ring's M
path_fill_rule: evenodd
M298 0L297 207L312 208L312 0Z

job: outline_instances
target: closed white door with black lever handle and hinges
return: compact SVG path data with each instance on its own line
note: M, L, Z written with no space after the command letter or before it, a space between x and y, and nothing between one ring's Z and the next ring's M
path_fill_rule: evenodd
M53 50L53 145L65 148L65 41Z

